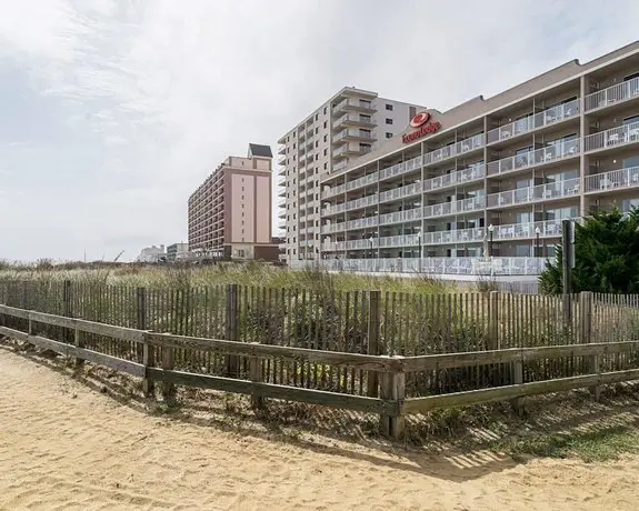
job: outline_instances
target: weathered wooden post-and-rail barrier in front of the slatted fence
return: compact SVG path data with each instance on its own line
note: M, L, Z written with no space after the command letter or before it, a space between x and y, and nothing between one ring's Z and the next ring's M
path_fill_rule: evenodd
M8 319L21 320L26 328L7 327ZM521 411L523 408L521 398L527 395L590 388L598 398L600 385L639 379L639 341L510 348L419 357L388 357L158 333L1 304L0 322L2 324L0 325L0 334L10 339L76 358L78 364L89 361L141 378L147 395L153 395L154 384L160 382L164 397L174 392L174 385L187 385L249 394L252 397L253 407L262 407L263 399L269 398L379 413L382 432L393 438L402 435L405 415L407 414L503 400L513 400L513 404ZM60 333L63 340L53 340L34 334L34 328L38 324L63 329ZM120 357L87 349L83 344L84 334L96 334L129 343L133 353L141 353L142 360L141 362L124 360ZM177 371L173 361L176 352L179 350L224 354L228 360L229 377ZM154 354L160 354L158 363L156 363ZM631 363L635 368L600 372L601 358L621 354L631 354L633 357ZM248 379L240 378L239 357L248 360ZM582 358L585 373L569 378L523 383L526 362L550 361L560 358ZM369 375L372 374L375 378L368 379L368 395L267 383L262 381L263 364L270 359L283 359L300 364L314 362L338 368L359 369L368 371ZM485 365L508 368L511 371L513 383L439 395L408 399L405 397L407 373Z

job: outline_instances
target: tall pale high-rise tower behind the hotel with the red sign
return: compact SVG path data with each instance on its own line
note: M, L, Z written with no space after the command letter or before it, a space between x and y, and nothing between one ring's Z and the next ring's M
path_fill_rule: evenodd
M402 132L422 108L346 87L279 139L279 229L290 265L319 259L320 179Z

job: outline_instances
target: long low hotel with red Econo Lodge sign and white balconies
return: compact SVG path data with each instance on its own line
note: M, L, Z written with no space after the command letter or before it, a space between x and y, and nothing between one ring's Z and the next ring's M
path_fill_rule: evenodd
M333 167L321 264L538 274L561 220L612 206L639 206L639 42L420 112L401 137Z

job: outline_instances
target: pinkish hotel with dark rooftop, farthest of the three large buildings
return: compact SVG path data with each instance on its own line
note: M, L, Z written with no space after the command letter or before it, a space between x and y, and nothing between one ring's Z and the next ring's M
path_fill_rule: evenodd
M189 249L226 259L278 260L272 244L272 152L249 144L227 158L189 198Z

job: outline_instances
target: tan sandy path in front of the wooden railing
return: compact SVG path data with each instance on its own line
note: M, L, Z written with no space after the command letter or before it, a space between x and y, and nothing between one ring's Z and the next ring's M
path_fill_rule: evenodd
M3 510L630 510L637 481L637 458L516 465L241 437L143 414L0 348Z

